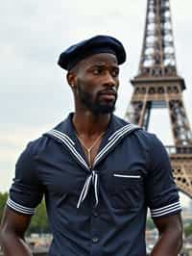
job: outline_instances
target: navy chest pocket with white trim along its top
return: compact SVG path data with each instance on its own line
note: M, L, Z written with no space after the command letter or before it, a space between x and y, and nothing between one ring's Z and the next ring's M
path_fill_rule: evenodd
M111 205L115 209L135 211L143 204L144 185L139 170L112 171L113 190L110 195Z

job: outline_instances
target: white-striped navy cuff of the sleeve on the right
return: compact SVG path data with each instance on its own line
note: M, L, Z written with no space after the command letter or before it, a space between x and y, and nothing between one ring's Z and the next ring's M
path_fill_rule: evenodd
M151 209L152 218L161 217L165 215L171 215L181 211L180 202L168 204L161 208Z

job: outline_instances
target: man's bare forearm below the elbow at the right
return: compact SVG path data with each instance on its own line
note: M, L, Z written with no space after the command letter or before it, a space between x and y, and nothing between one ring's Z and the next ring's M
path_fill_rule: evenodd
M156 243L151 256L178 256L182 246L182 232L167 230Z

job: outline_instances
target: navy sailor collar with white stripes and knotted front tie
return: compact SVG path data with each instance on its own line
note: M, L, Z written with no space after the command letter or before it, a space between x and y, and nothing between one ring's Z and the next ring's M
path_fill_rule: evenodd
M94 164L90 169L84 160L84 154L80 146L80 142L76 136L75 129L72 123L73 113L69 114L68 117L57 125L54 129L45 133L44 136L48 136L55 141L60 142L72 155L74 160L78 162L79 165L84 167L88 172L86 180L84 182L83 190L80 194L77 208L80 207L81 203L86 197L89 187L93 185L95 192L95 205L98 204L98 186L99 186L99 175L97 172L97 165L108 155L108 153L125 137L130 135L132 132L141 129L131 123L127 123L125 120L117 117L116 115L111 115L110 121L108 123L108 129L105 133L103 141L101 143L99 152L95 157Z

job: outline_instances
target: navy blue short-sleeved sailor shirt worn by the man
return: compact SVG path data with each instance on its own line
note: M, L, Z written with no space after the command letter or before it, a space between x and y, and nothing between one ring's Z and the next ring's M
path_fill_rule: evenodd
M144 256L147 208L152 218L180 212L162 143L115 115L92 169L72 114L29 143L7 204L33 215L43 195L54 238L50 256Z

